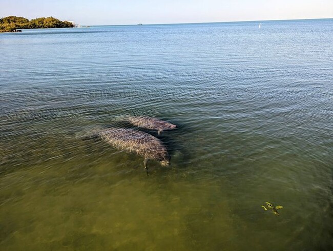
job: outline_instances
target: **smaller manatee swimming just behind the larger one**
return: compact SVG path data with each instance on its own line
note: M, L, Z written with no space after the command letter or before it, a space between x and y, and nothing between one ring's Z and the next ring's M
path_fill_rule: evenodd
M134 124L134 126L150 130L157 130L158 135L160 135L163 130L172 130L176 128L175 124L153 117L131 116L127 118L127 120L131 124Z

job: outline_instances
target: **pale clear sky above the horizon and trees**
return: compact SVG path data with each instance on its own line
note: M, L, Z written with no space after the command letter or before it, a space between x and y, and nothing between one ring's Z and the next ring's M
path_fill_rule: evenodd
M332 18L333 0L0 0L0 17L8 15L80 25Z

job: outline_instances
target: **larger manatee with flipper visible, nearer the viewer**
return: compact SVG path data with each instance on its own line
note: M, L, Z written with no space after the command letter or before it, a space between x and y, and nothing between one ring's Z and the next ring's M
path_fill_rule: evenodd
M103 140L117 149L144 157L143 165L147 171L147 161L155 159L161 165L170 164L170 155L158 138L133 129L109 128L98 134Z

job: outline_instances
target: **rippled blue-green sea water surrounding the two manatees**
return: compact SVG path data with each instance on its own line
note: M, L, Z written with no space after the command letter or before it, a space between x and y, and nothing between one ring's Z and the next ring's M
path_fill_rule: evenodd
M331 250L333 19L258 26L0 34L1 249ZM170 166L80 139L126 115Z

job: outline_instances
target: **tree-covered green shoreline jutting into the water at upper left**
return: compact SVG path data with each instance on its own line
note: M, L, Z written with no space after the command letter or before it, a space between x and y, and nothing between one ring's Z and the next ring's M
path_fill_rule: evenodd
M22 16L6 16L0 18L0 32L17 32L19 29L37 28L71 28L75 25L68 21L60 21L52 16L27 19Z

